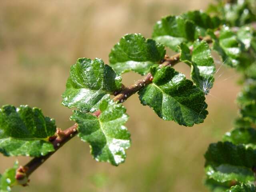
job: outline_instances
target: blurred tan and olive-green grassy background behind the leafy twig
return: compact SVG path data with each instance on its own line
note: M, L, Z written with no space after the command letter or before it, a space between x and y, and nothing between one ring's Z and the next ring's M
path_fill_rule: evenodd
M126 33L150 38L162 16L206 9L211 0L1 0L0 106L42 108L66 129L72 110L61 105L69 68L77 58L102 58ZM171 52L168 52L170 55ZM92 159L87 143L74 138L30 177L30 186L14 192L204 192L204 152L232 128L240 87L232 69L220 68L210 94L209 114L193 127L166 122L135 94L124 106L132 147L118 167ZM186 64L175 68L189 78ZM128 85L140 76L124 74ZM16 158L0 155L0 172ZM29 158L18 158L25 164Z

